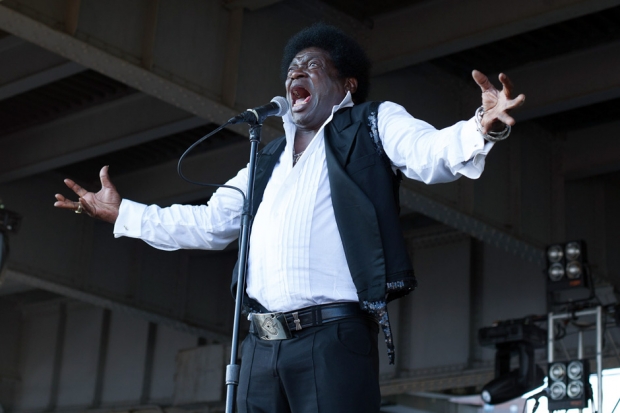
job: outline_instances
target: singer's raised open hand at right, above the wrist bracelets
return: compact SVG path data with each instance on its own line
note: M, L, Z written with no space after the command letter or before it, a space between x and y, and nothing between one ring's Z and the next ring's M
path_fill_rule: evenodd
M525 102L525 95L520 94L511 99L513 85L508 76L503 73L499 74L502 90L497 90L489 78L478 70L474 70L471 75L482 89L482 108L484 109L484 116L480 122L482 133L500 131L504 129L505 125L513 126L515 120L509 115L509 112Z

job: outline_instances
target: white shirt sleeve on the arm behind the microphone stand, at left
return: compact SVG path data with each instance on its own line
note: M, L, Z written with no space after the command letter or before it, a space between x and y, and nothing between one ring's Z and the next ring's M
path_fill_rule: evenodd
M247 168L226 185L247 188ZM123 199L114 236L139 238L167 251L226 248L239 236L243 197L234 189L218 188L207 205L160 208Z

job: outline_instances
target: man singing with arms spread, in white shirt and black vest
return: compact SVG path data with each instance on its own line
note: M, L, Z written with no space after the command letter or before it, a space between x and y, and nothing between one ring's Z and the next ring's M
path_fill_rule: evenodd
M365 102L369 67L362 48L331 26L304 29L284 49L291 109L285 137L258 159L240 412L379 411L377 334L392 361L386 305L415 287L398 222L400 176L428 184L478 178L515 123L509 112L525 100L511 98L507 76L500 91L474 71L482 107L436 130L395 103ZM227 185L245 190L247 176L242 169ZM218 189L208 205L159 208L121 199L107 167L100 177L97 193L65 180L79 200L57 194L54 205L164 250L222 249L238 236L235 190ZM285 337L270 336L282 328Z

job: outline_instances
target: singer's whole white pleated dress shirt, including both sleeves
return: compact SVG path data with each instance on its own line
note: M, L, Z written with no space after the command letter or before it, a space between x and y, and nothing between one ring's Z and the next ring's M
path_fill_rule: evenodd
M350 94L333 114L352 106ZM357 301L331 202L323 128L293 167L295 124L284 116L286 147L256 212L250 237L247 293L270 311ZM473 119L436 130L392 102L379 107L378 130L394 169L425 183L478 178L493 146ZM244 192L247 168L226 183ZM159 208L123 200L116 237L141 238L164 250L222 249L239 235L243 201L220 188L207 205Z

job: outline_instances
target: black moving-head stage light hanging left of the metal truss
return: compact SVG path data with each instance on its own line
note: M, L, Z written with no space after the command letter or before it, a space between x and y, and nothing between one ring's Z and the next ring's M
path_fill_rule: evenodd
M546 320L545 316L530 316L478 330L480 345L496 348L495 378L482 388L485 403L503 403L543 385L545 373L535 363L534 350L546 345L547 331L534 323ZM518 358L518 367L510 370L513 356Z

